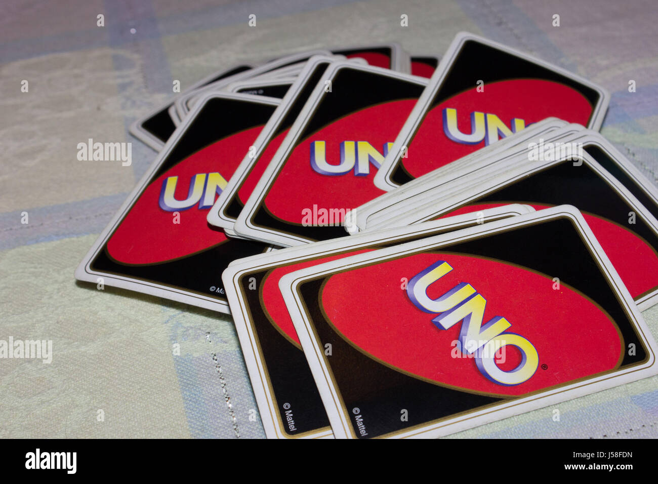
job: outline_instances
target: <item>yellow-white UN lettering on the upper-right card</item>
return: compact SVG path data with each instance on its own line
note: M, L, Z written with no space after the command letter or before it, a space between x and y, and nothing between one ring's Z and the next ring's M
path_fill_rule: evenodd
M511 128L508 128L507 124L496 115L473 111L470 113L470 134L465 134L457 126L457 109L453 107L443 109L443 132L445 132L445 136L457 143L480 144L484 140L484 145L489 146L493 142L497 142L499 136L503 138L512 136L525 127L526 122L519 118L514 118Z

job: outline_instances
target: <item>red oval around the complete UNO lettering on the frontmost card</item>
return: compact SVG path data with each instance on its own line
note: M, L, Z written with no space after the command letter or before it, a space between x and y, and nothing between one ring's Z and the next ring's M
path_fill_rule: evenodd
M511 323L507 333L523 336L536 348L539 367L530 379L515 386L493 383L473 358L455 358L453 342L461 322L439 329L432 323L436 314L411 302L401 278L410 281L440 260L453 271L430 284L428 296L438 298L459 282L470 283L487 302L483 324L503 316ZM615 369L622 357L617 325L588 298L564 284L553 290L545 275L470 255L415 254L338 273L328 279L320 299L332 325L373 358L415 377L474 392L522 395ZM506 351L505 358L499 365L503 371L520 362L515 351Z

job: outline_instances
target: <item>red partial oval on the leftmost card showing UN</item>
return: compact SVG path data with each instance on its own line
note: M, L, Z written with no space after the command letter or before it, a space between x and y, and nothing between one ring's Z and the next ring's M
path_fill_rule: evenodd
M228 181L261 129L263 126L249 128L219 140L153 180L108 240L107 250L111 257L126 264L152 264L195 254L224 242L224 232L210 229L206 221L212 205L199 208L205 191L209 189L207 186L204 186L199 202L176 210L180 223L174 223L174 210L161 208L163 186L167 178L177 176L174 198L186 200L197 174L219 173ZM206 185L207 182L206 177ZM209 195L209 200L214 203L216 199L215 190L215 194Z

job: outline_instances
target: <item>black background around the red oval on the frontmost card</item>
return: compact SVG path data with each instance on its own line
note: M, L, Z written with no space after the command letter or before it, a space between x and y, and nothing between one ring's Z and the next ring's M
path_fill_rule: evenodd
M615 293L569 220L562 218L513 229L478 240L443 246L437 251L491 257L559 277L561 282L580 290L611 315L624 336L624 345L636 344L636 355L626 353L622 368L640 363L647 356ZM320 310L318 298L323 282L324 278L305 282L299 286L299 294L307 306L320 342L333 345L333 355L327 358L328 364L331 365L347 412L351 415L352 408L360 409L368 437L401 431L499 401L490 396L448 389L409 377L355 350L332 330ZM626 346L622 348L625 350ZM542 371L542 364L550 368L559 363L540 355L537 371ZM401 409L408 410L409 421L401 421ZM358 436L353 418L351 422Z

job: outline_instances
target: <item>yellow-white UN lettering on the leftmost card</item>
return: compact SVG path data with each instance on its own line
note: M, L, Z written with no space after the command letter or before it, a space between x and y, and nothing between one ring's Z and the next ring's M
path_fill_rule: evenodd
M194 181L192 181L194 180ZM176 200L178 176L167 176L160 192L160 208L168 211L183 211L199 203L199 209L212 207L215 198L226 188L226 180L219 173L197 173L190 180L190 190L185 200Z

